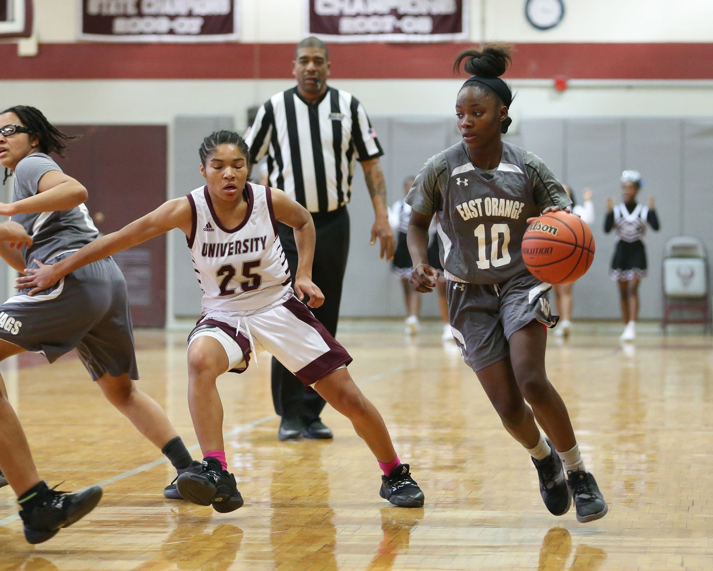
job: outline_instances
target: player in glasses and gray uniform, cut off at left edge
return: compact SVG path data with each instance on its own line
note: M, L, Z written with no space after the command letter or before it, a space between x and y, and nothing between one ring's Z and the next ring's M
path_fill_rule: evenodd
M68 138L34 107L0 113L0 164L5 178L11 172L15 176L13 202L0 203L0 215L12 216L32 238L22 253L4 247L0 256L21 273L35 257L58 261L98 237L83 204L86 188L48 155L61 155ZM0 305L0 360L33 351L53 363L73 349L107 400L162 449L179 473L200 467L160 406L135 386L126 284L113 260L93 263L43 295L19 292ZM97 486L68 495L39 479L1 378L0 470L0 486L9 483L18 495L30 543L46 541L78 521L101 498Z

